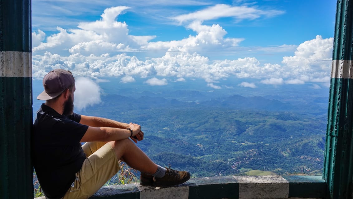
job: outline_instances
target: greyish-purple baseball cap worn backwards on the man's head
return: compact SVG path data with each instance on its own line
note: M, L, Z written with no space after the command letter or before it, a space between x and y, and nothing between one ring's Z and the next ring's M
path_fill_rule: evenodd
M50 100L59 96L70 87L75 80L70 71L55 69L43 78L44 91L37 96L38 100Z

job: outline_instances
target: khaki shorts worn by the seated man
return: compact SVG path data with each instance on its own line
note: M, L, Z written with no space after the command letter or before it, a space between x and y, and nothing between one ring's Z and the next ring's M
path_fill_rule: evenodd
M86 142L83 146L87 159L76 174L73 187L62 199L89 198L120 169L114 149L104 142Z

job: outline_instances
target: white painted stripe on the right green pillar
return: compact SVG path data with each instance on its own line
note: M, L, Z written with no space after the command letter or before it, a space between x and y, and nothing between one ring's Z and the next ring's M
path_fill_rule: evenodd
M353 61L333 60L331 78L353 79Z

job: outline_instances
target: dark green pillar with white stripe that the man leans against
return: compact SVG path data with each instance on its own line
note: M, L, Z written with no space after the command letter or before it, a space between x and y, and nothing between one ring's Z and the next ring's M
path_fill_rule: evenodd
M0 198L33 198L31 0L0 0Z

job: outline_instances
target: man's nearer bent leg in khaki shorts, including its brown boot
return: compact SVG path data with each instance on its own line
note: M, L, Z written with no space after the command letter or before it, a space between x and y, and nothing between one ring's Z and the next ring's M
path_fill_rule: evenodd
M158 170L158 165L130 139L108 142L84 161L81 170L76 174L77 180L74 181L74 186L68 190L64 199L88 198L96 193L119 171L119 159L131 168L148 174L155 174ZM170 186L183 183L190 178L189 172L185 171L167 169L164 174L166 177L152 177L152 183L158 186Z

